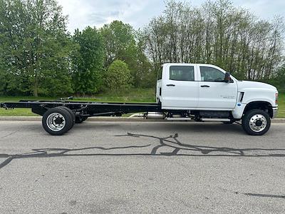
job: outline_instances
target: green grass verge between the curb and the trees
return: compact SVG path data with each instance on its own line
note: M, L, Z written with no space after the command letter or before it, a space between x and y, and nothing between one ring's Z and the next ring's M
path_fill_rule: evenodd
M0 97L0 102L18 102L20 100L56 100L56 98L46 97ZM150 89L130 89L115 93L99 93L95 96L74 98L73 101L98 101L98 102L130 102L130 103L152 103L155 102L155 90ZM6 111L0 108L0 116L36 116L31 109L16 108ZM285 118L285 93L279 94L279 118Z

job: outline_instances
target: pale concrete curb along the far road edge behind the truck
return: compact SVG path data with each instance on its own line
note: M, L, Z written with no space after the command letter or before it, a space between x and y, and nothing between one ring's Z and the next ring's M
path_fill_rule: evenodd
M0 116L0 121L41 121L41 116ZM118 121L118 122L173 122L165 120L145 120L141 117L124 118L124 117L93 117L87 121ZM177 121L180 122L180 121ZM189 121L195 122L195 121ZM285 123L285 118L276 118L271 123Z

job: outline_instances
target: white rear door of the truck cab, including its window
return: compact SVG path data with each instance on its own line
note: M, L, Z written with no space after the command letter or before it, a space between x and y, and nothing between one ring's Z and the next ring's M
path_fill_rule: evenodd
M195 65L167 65L162 82L162 108L190 109L198 105L199 82Z

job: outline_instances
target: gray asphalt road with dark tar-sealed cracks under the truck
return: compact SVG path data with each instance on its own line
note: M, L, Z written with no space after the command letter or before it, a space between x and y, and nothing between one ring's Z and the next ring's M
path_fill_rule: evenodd
M285 213L285 124L0 122L0 213Z

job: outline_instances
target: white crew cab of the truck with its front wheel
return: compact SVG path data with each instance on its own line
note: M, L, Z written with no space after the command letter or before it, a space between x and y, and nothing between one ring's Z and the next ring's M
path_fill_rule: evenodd
M157 103L162 110L187 111L195 121L242 120L244 131L263 135L278 111L276 87L239 81L209 64L166 63L157 80Z

